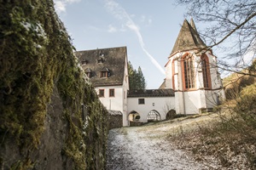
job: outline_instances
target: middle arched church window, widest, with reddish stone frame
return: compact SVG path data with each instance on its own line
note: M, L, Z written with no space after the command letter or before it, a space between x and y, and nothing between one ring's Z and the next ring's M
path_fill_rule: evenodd
M183 56L183 88L191 89L195 88L195 70L193 57L189 54Z

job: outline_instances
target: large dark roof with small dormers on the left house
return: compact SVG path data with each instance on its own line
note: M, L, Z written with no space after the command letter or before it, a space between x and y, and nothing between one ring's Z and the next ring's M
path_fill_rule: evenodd
M90 72L90 81L95 87L123 84L126 47L84 50L75 52L75 55L84 71ZM102 71L108 71L108 77L100 77Z

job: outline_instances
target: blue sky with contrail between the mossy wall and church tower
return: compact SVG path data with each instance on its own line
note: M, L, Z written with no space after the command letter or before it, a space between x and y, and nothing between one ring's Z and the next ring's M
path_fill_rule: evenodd
M78 51L126 46L128 60L136 69L141 66L147 88L160 87L166 77L164 66L183 24L184 7L170 0L54 2Z

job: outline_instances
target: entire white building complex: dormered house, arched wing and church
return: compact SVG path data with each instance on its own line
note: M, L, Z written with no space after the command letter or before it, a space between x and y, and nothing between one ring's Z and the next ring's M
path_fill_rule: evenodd
M201 40L193 20L183 22L159 89L129 91L125 47L79 51L76 55L102 104L123 114L123 126L166 120L175 112L212 111L224 99L217 57Z

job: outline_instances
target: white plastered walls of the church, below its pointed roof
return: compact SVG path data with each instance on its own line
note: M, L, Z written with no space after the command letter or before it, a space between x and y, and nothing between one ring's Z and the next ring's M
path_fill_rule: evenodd
M183 75L181 68L181 57L183 54L193 54L195 59L195 90L185 91L183 89ZM210 51L207 51L207 57L210 63L210 75L212 90L205 90L203 88L203 78L201 72L201 56L196 56L195 51L187 51L183 53L177 53L170 58L166 64L166 79L169 83L166 83L168 87L172 88L172 59L174 60L175 72L174 72L174 84L175 87L175 101L177 114L196 114L199 113L201 108L213 108L218 104L218 96L224 98L224 90L222 89L222 82L218 75L217 57L212 55Z

